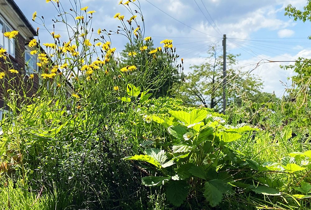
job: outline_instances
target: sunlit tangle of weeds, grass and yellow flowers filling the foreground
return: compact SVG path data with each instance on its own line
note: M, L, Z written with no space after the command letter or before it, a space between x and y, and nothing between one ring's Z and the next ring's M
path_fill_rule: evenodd
M138 1L121 1L129 13L114 16L118 29L97 33L95 11L80 2L67 12L61 1L47 3L68 37L51 31L53 43L29 43L42 78L35 95L12 82L23 75L0 49L11 72L0 72L10 107L1 121L0 209L310 209L309 102L231 93L227 115L185 106L174 98L183 59L172 40L153 47L144 36ZM44 26L37 12L33 21ZM128 38L121 58L114 34ZM299 88L310 82L295 78L292 96L309 99Z

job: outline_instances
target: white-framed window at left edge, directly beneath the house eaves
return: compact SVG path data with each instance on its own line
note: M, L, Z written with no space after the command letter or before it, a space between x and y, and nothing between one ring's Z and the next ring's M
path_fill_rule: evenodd
M15 40L8 39L3 34L4 32L10 32L12 28L5 23L0 17L0 47L7 50L7 53L15 57Z

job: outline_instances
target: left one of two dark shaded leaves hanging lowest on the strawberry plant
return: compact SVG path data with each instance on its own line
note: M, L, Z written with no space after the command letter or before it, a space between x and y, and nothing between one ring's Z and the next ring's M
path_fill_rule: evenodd
M186 181L170 181L166 186L165 195L169 203L179 207L187 198L188 187Z

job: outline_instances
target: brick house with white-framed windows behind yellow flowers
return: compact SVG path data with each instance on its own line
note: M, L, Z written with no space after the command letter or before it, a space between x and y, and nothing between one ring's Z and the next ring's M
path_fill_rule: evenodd
M8 39L3 35L4 32L12 30L19 31L16 40ZM3 100L3 94L7 94L6 90L10 86L23 86L24 90L26 90L26 96L31 97L41 85L41 76L36 65L37 56L31 55L31 50L28 47L29 41L36 35L36 30L31 26L30 22L13 0L0 0L0 49L4 48L7 50L8 59L12 63L12 67L7 67L3 63L3 58L0 58L0 71L6 72L9 78L13 75L8 71L8 68L14 68L19 71L19 76L11 84L5 84L4 89L2 87L0 88L0 120L2 119L3 113L8 112L8 108ZM33 79L30 79L30 74L34 74ZM71 95L71 93L72 86L67 82L67 94Z

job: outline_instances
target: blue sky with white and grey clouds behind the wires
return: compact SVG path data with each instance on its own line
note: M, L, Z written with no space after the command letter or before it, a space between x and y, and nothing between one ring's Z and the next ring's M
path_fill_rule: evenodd
M70 8L70 0L60 1L65 8ZM38 16L44 16L46 28L51 30L52 19L57 19L52 2L15 2L34 28L40 27L41 42L51 41L44 27L31 18L37 11ZM95 31L98 28L116 31L120 23L113 16L117 12L126 18L131 16L125 7L118 5L119 0L80 2L82 7L96 11L92 22ZM163 39L174 40L177 53L184 58L185 73L191 71L191 65L205 61L210 46L216 45L217 54L221 55L222 38L226 34L227 53L240 54L235 68L261 78L263 91L281 96L286 87L284 84L291 84L288 77L294 74L279 67L289 62L269 63L267 60L295 61L298 57L311 56L310 22L294 22L284 16L288 4L301 9L306 5L305 0L139 0L139 4L144 16L145 36L151 36L155 46L161 46ZM65 33L64 30L64 25L56 24L56 33ZM127 42L122 35L113 35L112 40L119 52Z

